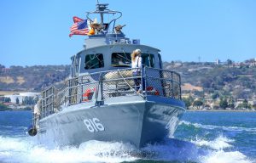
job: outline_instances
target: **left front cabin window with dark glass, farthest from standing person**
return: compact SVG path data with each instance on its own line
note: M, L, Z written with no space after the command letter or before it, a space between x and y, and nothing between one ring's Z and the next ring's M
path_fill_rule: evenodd
M97 69L104 67L104 59L102 53L87 54L85 56L85 66L84 69Z

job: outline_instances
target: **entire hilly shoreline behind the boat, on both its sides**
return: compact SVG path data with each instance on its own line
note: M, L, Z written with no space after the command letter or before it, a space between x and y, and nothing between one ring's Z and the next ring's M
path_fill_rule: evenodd
M252 61L253 62L253 61ZM205 93L232 98L253 98L256 93L256 66L243 63L164 62L166 70L182 76L183 93L204 97ZM69 65L11 66L0 65L0 91L39 92L69 74Z

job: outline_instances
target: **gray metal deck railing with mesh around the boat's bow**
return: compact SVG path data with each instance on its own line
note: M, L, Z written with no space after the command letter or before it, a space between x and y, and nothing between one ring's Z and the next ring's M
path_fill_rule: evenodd
M89 102L101 102L120 96L158 96L181 99L181 80L177 72L145 67L133 76L134 69L109 70L68 79L57 89L51 86L42 92L38 106L40 118L61 108ZM135 80L141 91L135 89Z

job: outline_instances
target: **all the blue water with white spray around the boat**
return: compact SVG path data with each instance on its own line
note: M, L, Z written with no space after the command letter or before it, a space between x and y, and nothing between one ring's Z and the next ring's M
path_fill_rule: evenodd
M174 138L136 149L89 141L48 149L26 135L29 111L0 112L0 162L256 163L256 112L186 112Z

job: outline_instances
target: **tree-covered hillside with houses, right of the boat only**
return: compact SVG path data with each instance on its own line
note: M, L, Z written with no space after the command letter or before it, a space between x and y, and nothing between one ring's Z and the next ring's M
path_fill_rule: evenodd
M175 70L182 76L183 85L197 89L183 89L203 97L205 93L232 98L253 98L256 93L255 62L216 65L214 63L164 63L166 70ZM185 87L183 87L185 88ZM201 90L202 88L202 90Z

